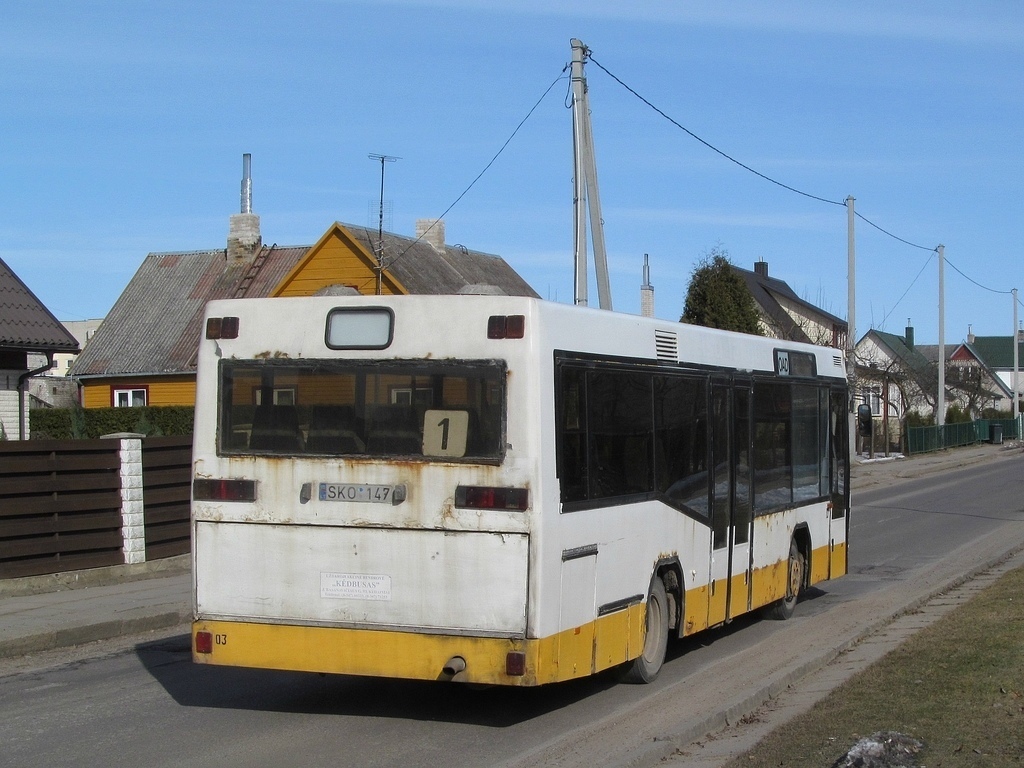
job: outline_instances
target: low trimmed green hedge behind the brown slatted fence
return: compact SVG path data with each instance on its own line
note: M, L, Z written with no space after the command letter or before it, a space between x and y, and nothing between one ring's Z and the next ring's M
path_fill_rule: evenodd
M190 435L195 413L191 406L36 408L29 411L29 424L31 436L38 440L95 438L115 432Z

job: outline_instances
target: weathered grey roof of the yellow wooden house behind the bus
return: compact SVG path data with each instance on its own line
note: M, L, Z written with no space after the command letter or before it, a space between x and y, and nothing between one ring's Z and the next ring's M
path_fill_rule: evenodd
M371 253L377 231L343 224ZM77 377L190 374L206 302L265 297L311 246L263 246L253 262L227 262L225 249L146 256L95 336L75 360ZM384 233L388 271L413 294L455 294L487 283L510 295L538 294L503 259ZM258 269L250 270L250 264Z

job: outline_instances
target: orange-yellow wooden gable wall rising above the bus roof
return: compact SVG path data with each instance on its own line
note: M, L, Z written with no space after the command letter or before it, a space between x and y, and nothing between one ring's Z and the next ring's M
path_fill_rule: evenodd
M334 226L282 280L272 295L312 296L327 286L341 285L372 296L377 293L375 263L372 254L346 237L340 226ZM393 296L408 292L385 271L381 293Z

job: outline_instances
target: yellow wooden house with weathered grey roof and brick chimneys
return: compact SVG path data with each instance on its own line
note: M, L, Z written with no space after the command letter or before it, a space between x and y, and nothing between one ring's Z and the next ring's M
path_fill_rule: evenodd
M336 222L312 246L266 246L259 217L241 213L231 216L227 248L150 254L75 360L82 404L195 404L196 350L211 299L339 289L538 295L502 258L445 245L443 221L417 227L410 238Z

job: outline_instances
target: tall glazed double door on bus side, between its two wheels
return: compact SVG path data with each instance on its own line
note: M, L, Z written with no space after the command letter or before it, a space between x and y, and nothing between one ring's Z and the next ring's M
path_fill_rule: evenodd
M750 401L750 384L712 383L712 626L751 604Z

